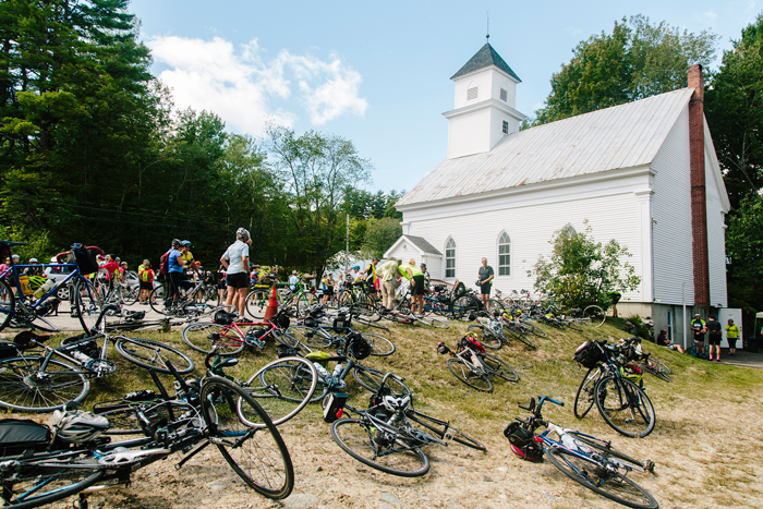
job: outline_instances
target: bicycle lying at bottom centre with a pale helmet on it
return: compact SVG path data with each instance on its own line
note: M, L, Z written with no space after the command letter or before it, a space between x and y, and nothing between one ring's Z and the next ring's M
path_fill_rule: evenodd
M343 402L339 412L358 415L339 419L331 424L331 438L355 460L392 475L417 477L429 471L429 460L421 450L431 444L448 446L449 443L485 450L480 441L441 421L413 409L410 393L398 395L387 387L387 380L402 384L403 379L388 373L371 398L366 410ZM334 410L331 402L327 409ZM332 415L329 417L334 419ZM437 437L415 428L411 421L421 424Z

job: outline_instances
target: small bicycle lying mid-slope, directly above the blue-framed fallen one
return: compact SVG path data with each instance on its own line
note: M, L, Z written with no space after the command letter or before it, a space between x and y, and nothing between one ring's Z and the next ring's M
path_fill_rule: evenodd
M444 341L437 343L437 353L450 354L448 369L460 381L476 390L493 392L491 378L498 377L506 381L519 381L517 372L500 359L487 354L485 348L473 334L468 334L456 344L456 351L446 347Z

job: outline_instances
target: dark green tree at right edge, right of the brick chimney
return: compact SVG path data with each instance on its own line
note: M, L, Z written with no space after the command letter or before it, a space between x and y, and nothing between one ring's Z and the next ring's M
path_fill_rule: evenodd
M763 187L763 14L724 51L705 113L731 206Z

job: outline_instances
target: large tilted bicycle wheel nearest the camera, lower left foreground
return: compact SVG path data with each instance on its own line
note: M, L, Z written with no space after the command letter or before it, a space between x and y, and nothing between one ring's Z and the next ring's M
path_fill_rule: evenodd
M278 428L254 398L215 376L202 385L201 400L209 439L239 477L267 498L288 497L294 487L291 457Z

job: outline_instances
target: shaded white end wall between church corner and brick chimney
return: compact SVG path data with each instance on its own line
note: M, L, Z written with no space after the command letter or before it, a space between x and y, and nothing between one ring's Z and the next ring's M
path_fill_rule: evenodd
M663 304L694 304L689 169L689 108L683 108L651 165L654 299Z

